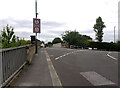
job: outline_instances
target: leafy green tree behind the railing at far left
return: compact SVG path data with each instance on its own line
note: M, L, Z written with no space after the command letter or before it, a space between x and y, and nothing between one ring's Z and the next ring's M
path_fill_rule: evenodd
M3 28L2 32L2 48L9 48L11 47L11 43L16 42L16 36L14 35L14 29L10 26L6 26Z

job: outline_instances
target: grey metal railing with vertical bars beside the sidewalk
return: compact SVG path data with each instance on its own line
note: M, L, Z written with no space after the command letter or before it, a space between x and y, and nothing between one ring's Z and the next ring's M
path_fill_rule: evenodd
M0 50L1 87L26 63L26 53L26 46Z

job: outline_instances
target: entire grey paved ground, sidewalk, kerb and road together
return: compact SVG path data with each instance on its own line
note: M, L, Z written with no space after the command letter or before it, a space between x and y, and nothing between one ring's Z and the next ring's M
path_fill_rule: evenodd
M12 86L116 86L118 57L114 54L117 59L113 59L107 54L112 55L107 51L38 49L31 65Z

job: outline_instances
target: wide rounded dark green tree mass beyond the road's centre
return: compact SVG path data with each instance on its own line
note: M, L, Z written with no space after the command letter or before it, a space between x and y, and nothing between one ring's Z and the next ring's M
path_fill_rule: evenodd
M88 40L92 40L90 36L81 35L77 31L65 31L65 33L62 34L62 38L63 41L68 42L69 45L82 46L82 47L87 47L89 44Z

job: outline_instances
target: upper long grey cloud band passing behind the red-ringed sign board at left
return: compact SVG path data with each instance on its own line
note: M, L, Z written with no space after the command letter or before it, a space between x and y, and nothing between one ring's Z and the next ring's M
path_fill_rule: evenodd
M1 28L5 27L7 24L14 28L28 28L32 29L33 27L33 22L32 20L17 20L13 18L6 18L6 19L1 19L0 24L2 25ZM42 21L42 29L52 29L52 28L58 28L65 25L65 23L60 23L60 22L55 22L55 21ZM0 28L0 29L1 29Z

